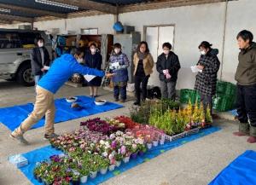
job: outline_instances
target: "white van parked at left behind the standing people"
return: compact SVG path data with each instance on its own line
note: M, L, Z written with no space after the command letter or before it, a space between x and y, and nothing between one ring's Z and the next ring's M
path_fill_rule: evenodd
M51 56L51 41L45 32L0 29L0 78L13 78L20 84L34 84L31 59L35 38L44 38Z

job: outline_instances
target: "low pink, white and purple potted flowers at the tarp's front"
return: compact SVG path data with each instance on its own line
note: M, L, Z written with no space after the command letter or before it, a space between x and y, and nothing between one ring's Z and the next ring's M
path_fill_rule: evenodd
M154 135L145 131L147 127L153 128L137 125L137 131L141 129L137 135L134 130L117 130L107 136L83 128L58 136L50 143L67 155L52 156L50 161L42 162L35 168L34 175L45 184L79 184L86 182L88 176L95 178L98 172L113 171L122 161L127 163L143 155L152 145L157 146L159 141L153 142ZM145 140L148 137L150 139Z

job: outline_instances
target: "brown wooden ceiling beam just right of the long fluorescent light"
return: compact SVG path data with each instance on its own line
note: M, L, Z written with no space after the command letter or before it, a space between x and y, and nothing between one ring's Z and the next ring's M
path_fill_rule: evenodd
M97 3L89 0L52 0L57 3L66 3L78 6L81 9L97 10L108 14L117 14L117 7L108 3Z

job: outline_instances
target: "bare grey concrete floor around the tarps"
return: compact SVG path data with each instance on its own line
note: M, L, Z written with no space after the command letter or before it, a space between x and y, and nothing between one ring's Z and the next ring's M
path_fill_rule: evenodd
M64 86L56 98L68 95L89 95L88 88L73 88ZM113 100L112 93L101 90L100 95L107 100ZM0 80L0 107L9 107L34 101L33 87L22 87L14 82ZM125 102L125 107L108 113L93 115L91 118L112 117L128 114L132 101ZM88 117L90 118L90 117ZM88 119L85 118L85 119ZM79 128L79 122L84 119L55 124L56 133L63 133ZM181 147L161 154L142 165L125 171L113 177L104 185L206 185L238 155L248 149L256 150L256 144L248 144L247 137L232 136L237 123L218 119L215 121L222 130L201 139L189 142ZM48 145L43 140L44 129L30 130L26 138L31 145L21 146L9 138L10 131L0 124L0 185L31 184L14 165L9 164L8 157L16 153L26 153L35 148Z

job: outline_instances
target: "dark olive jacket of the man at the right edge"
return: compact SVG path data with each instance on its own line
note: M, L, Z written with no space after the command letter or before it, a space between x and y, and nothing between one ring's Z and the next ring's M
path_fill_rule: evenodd
M247 49L241 49L238 61L235 77L237 84L256 84L256 43L252 43Z

